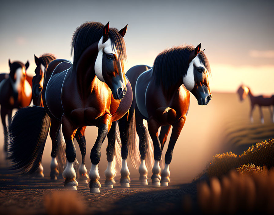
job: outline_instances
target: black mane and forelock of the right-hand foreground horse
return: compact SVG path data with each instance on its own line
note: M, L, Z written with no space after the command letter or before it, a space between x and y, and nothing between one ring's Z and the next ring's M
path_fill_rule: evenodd
M160 86L162 82L164 88L168 89L186 76L189 56L194 49L195 47L192 45L178 46L158 54L153 64L153 75L156 85ZM198 57L210 73L209 62L205 53L200 51Z

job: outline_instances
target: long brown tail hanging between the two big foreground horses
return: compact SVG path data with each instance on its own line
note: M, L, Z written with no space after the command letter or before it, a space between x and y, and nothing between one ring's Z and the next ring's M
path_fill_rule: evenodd
M128 140L128 155L132 166L137 169L140 165L140 151L137 144L137 132L136 132L136 121L135 111L132 117L127 123L127 140Z

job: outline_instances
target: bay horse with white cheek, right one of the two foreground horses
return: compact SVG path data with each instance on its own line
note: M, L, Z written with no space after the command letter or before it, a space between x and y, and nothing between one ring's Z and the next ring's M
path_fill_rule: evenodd
M189 91L196 97L199 105L206 105L211 99L208 84L210 66L206 55L200 51L200 48L201 44L196 48L179 46L165 50L156 57L152 68L138 65L130 68L126 73L132 86L134 98L129 112L135 109L135 118L132 117L127 120L123 117L119 120L119 124L123 123L125 128L128 127L127 133L133 133L132 129L136 127L141 154L139 167L141 184L147 184L145 159L149 147L147 145L148 135L150 135L154 145L155 161L152 169L152 184L154 186L168 186L170 181L169 164L172 159L173 148L189 109ZM143 120L147 120L149 134ZM133 126L129 126L130 123ZM172 133L165 154L165 168L161 172L159 164L162 150L171 126ZM158 135L160 127L161 133ZM124 135L121 135L122 145L125 142L129 144L132 140L132 138L122 138L122 136Z

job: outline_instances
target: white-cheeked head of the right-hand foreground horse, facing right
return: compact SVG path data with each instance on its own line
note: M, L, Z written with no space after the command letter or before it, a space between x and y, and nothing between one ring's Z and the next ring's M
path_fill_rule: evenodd
M211 99L208 83L210 66L201 43L190 53L187 75L183 77L183 84L196 97L199 105L206 105Z

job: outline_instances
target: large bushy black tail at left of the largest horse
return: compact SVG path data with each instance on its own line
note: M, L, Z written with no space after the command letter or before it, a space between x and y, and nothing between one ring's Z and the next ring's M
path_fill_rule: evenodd
M23 174L31 174L38 169L50 120L43 107L29 106L15 113L8 128L8 158L12 162L11 169L17 169Z

